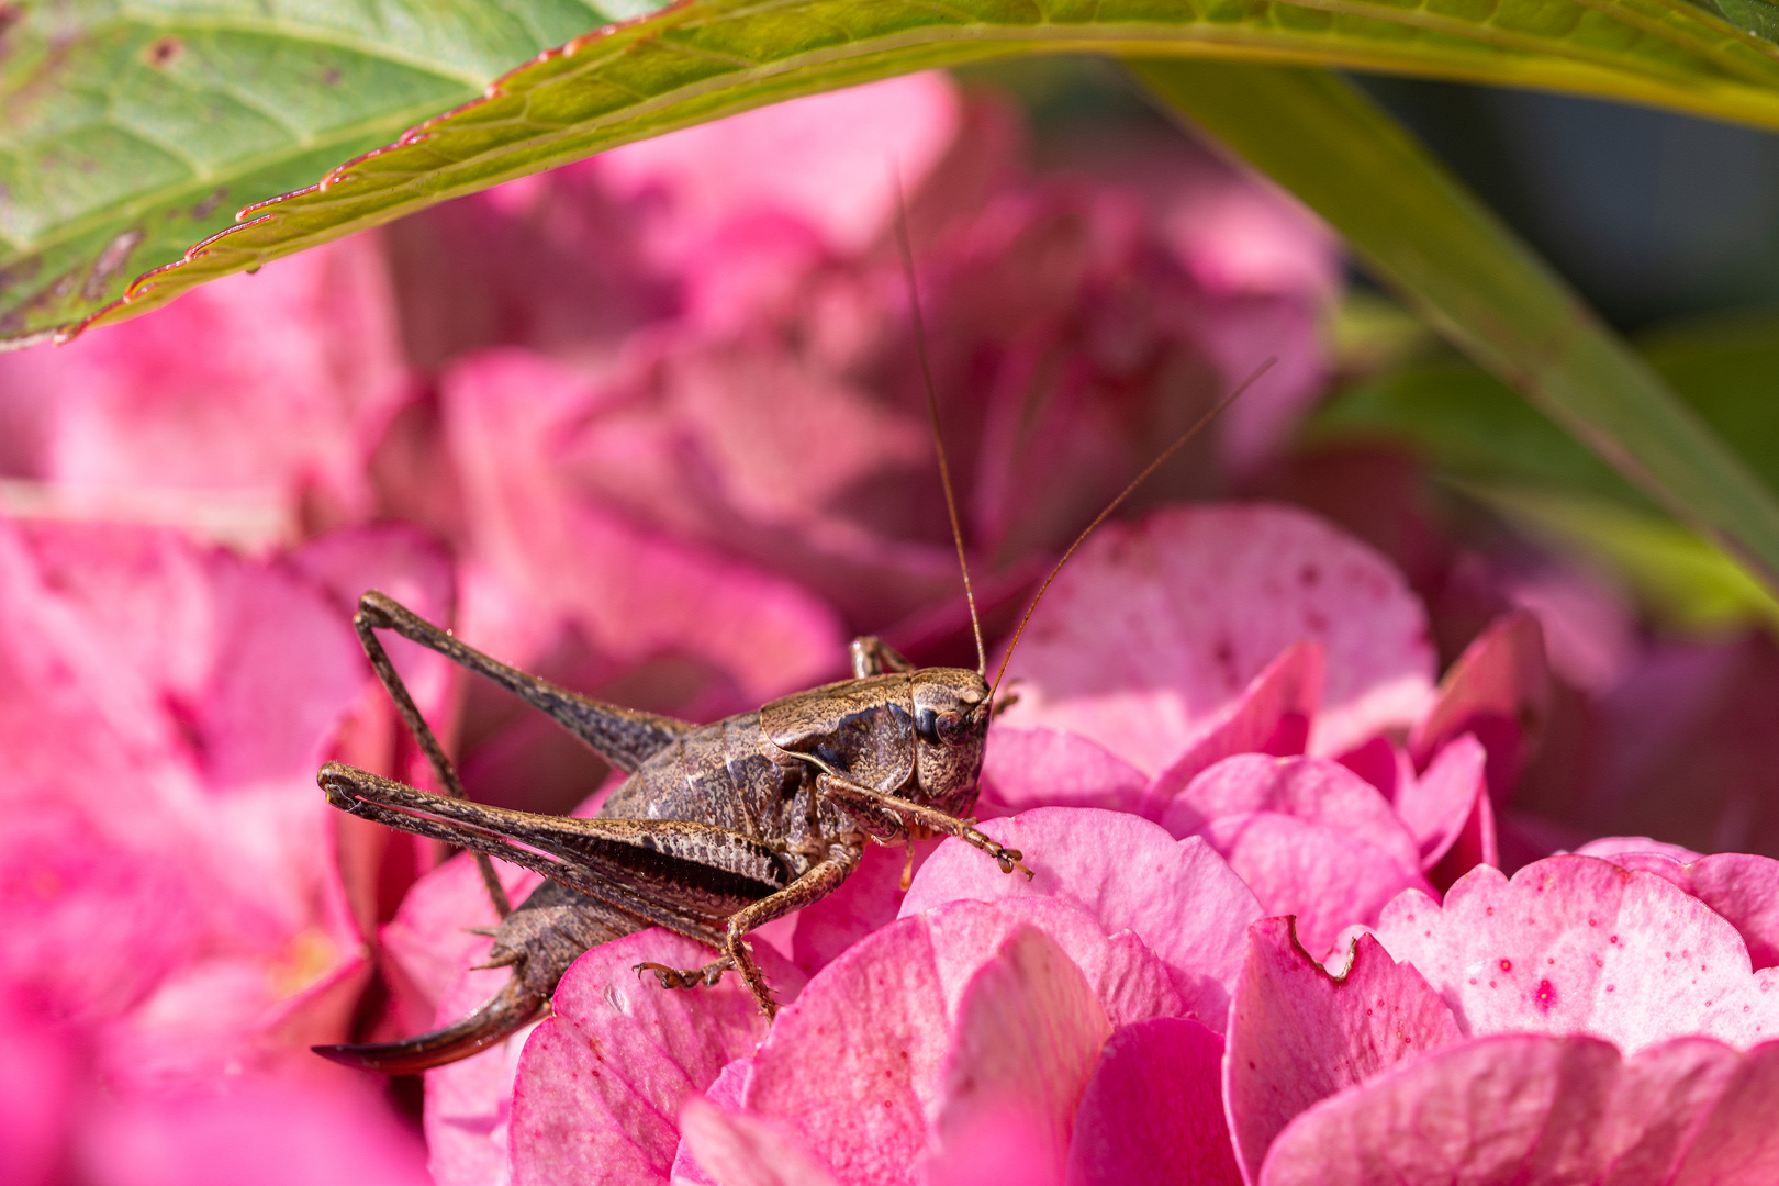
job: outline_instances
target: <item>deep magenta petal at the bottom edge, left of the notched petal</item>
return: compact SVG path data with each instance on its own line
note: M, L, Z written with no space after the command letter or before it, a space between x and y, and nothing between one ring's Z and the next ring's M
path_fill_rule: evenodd
M1155 1017L1114 1033L1075 1115L1067 1186L1236 1186L1222 1049L1222 1038L1190 1017Z

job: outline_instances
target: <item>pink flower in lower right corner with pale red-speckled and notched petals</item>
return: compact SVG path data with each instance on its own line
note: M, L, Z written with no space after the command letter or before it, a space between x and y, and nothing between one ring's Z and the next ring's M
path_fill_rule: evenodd
M1341 980L1268 921L1231 1012L1236 1149L1258 1182L1765 1181L1768 978L1701 902L1590 857L1404 894Z

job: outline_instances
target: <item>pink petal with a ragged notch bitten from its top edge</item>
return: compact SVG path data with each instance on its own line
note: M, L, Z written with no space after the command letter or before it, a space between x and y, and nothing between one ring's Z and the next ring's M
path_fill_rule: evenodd
M1256 1181L1293 1117L1461 1033L1420 973L1370 935L1359 935L1340 980L1299 946L1290 919L1254 923L1249 937L1229 1008L1224 1090L1236 1158Z

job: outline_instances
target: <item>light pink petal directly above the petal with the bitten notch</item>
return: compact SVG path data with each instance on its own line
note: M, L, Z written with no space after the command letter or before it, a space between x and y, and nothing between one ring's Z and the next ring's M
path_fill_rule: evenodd
M1256 811L1213 820L1201 832L1247 882L1268 914L1295 914L1311 951L1327 951L1352 923L1377 919L1404 889L1432 891L1414 866L1363 839L1293 816Z

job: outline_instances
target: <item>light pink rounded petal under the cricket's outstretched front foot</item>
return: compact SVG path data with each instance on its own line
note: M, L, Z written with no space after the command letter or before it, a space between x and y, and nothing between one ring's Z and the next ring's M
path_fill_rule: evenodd
M1167 966L1185 1012L1222 1028L1247 925L1261 909L1208 845L1174 841L1137 816L1071 807L991 820L982 830L1025 853L1032 880L1007 877L962 841L946 841L909 887L902 918L968 898L1067 902L1103 934L1135 932Z

